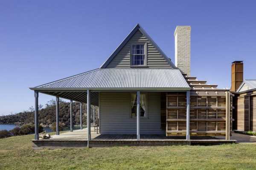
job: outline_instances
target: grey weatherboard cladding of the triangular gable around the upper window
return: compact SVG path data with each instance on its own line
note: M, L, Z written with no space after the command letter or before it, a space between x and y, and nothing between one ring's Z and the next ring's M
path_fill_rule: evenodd
M163 58L148 39L138 30L133 37L125 44L113 60L107 65L107 68L130 68L130 47L131 44L146 42L147 67L148 68L172 68Z

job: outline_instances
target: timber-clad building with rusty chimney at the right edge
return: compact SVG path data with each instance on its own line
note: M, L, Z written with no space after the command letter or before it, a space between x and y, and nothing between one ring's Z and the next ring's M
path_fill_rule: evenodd
M233 130L256 131L256 79L244 79L242 61L232 63Z

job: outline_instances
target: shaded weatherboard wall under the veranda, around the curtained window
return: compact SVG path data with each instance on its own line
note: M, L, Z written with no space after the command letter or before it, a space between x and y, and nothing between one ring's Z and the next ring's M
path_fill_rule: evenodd
M165 134L161 130L160 93L148 94L148 118L140 119L140 134ZM100 92L102 134L136 134L136 118L130 118L129 92Z

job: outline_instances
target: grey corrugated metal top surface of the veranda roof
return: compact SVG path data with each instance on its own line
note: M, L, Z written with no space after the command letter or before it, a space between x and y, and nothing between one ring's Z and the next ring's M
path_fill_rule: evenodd
M43 88L189 89L189 85L174 68L98 68L31 89Z

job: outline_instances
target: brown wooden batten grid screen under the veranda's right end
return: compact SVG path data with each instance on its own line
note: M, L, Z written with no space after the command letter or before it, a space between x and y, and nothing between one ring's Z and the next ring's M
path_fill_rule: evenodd
M225 136L226 96L191 96L189 124L191 136ZM167 93L166 136L185 135L186 93Z

